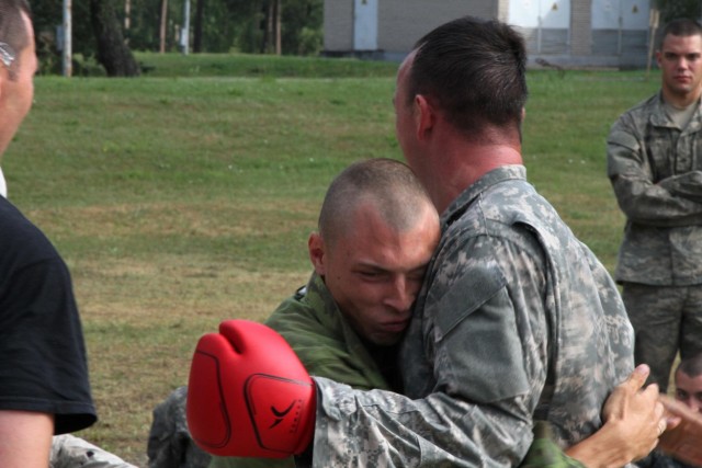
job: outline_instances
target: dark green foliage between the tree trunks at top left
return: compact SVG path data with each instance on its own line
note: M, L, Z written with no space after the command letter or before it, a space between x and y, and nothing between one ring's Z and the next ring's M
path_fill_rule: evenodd
M165 50L178 52L185 0L100 0L110 2L116 30L127 50L160 47L161 10L166 7ZM270 8L275 0L190 0L191 52L274 53L270 35ZM280 44L285 55L315 55L321 49L322 0L278 0ZM72 1L72 52L99 58L90 5L93 0ZM128 8L127 8L128 7ZM63 0L33 0L33 19L42 71L60 72ZM128 10L128 15L126 11ZM195 34L197 33L197 34ZM194 44L194 38L197 43ZM112 43L112 47L117 47ZM195 47L193 47L195 46ZM122 50L124 53L124 50ZM103 54L104 55L104 54ZM76 67L73 67L76 69Z

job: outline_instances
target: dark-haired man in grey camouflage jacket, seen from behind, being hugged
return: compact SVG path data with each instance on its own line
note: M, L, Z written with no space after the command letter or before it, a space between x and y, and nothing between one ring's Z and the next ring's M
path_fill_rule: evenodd
M633 331L604 267L525 180L524 73L523 39L473 18L400 67L397 137L442 239L403 345L407 397L316 378L314 466L516 466L535 420L562 447L615 425L600 411L634 366ZM603 464L648 453L656 396L639 396L638 452Z

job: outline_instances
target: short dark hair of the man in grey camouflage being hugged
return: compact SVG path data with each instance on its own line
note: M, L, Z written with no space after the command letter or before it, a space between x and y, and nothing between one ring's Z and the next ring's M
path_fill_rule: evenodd
M524 38L497 20L463 16L442 24L416 44L407 96L428 96L457 129L483 138L489 126L521 132L526 103Z

